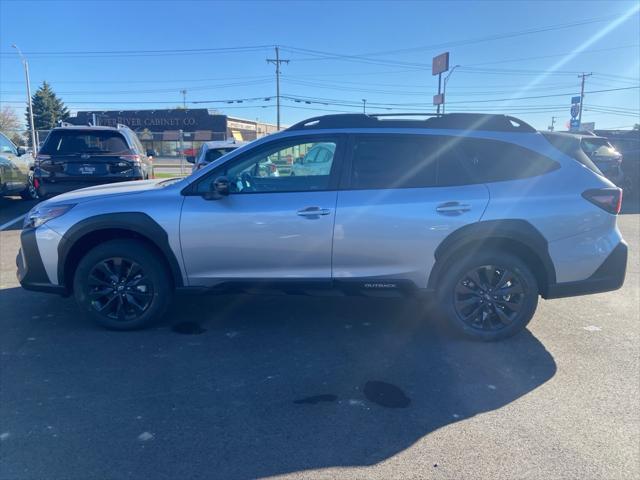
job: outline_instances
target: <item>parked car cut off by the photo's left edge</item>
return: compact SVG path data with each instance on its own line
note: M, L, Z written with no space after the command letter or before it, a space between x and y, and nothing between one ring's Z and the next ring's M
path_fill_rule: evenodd
M33 186L33 157L24 147L16 147L0 133L0 196L37 198Z

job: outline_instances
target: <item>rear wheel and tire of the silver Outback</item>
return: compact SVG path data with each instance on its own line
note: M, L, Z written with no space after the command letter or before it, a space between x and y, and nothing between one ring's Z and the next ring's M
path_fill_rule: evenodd
M447 265L436 304L457 332L491 342L525 329L538 305L538 284L518 257L488 251Z

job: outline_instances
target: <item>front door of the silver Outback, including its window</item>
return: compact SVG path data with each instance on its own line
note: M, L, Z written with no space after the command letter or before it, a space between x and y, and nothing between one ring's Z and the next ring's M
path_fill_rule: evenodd
M325 170L291 175L293 164L319 144L333 152ZM336 214L338 136L269 142L216 167L192 185L180 222L191 286L225 281L331 280ZM224 176L230 194L211 199Z

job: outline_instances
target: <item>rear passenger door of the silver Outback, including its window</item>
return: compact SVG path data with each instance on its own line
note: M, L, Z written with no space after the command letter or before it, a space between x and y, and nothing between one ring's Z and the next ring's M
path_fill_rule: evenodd
M432 135L351 138L334 229L336 281L426 288L436 247L477 222L489 201L486 186L462 181L449 150Z

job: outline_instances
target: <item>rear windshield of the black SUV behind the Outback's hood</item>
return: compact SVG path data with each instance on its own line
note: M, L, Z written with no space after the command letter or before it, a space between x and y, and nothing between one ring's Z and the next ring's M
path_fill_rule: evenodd
M115 131L53 130L42 146L46 155L122 155L130 153L127 141Z

